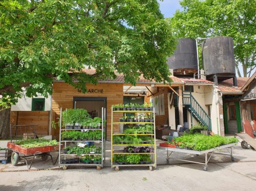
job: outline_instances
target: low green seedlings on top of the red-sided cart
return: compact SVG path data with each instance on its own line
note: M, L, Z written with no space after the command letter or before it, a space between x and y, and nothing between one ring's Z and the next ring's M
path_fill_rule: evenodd
M57 146L59 142L57 140L47 140L47 139L24 139L15 141L15 144L20 145L24 148L32 148L32 147L43 147L43 146Z

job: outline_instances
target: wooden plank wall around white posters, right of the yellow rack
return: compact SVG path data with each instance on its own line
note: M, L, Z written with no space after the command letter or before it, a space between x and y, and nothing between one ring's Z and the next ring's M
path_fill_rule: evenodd
M154 94L154 96L158 96L161 94L164 94L164 115L157 115L156 116L156 126L160 124L169 124L166 123L166 120L169 119L169 111L168 111L168 93L171 92L169 87L151 87L151 92ZM153 98L154 96L149 96L149 98ZM175 117L175 116L174 116Z

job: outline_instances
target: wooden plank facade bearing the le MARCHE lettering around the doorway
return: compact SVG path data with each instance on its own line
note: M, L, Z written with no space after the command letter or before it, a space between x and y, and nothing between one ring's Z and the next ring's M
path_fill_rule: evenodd
M56 112L56 122L62 110L73 108L73 97L106 97L107 98L107 139L111 136L111 105L123 103L123 84L86 85L87 89L103 89L103 93L81 93L78 89L65 84L64 82L53 83L52 110ZM114 121L118 121L122 114L116 114ZM119 125L114 126L114 132L118 132ZM54 131L54 136L59 139L59 128Z

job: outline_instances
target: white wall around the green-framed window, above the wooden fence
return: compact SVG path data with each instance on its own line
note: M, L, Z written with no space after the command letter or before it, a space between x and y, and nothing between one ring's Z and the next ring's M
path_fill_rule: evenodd
M38 94L38 97L35 98L44 98L41 94ZM32 98L28 98L25 96L22 96L18 99L18 103L15 105L12 105L11 111L31 111L32 110ZM48 98L45 98L44 102L44 111L50 111L51 110L51 96L48 96Z

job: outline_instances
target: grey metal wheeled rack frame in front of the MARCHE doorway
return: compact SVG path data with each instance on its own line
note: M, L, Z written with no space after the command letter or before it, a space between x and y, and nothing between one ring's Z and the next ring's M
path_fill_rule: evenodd
M95 129L69 129L69 128L59 128L59 142L64 143L64 148L66 148L68 142L94 142L99 141L101 143L101 154L82 154L82 156L101 156L101 162L100 163L93 163L93 164L86 164L82 163L79 160L79 156L77 154L64 154L61 152L61 148L59 147L59 167L61 167L63 170L67 169L67 166L96 166L97 170L100 170L103 168L103 161L105 161L105 127L104 127L104 121L106 119L106 109L102 107L102 117L101 117L101 128L95 128ZM62 123L62 107L60 108L60 127ZM63 131L81 131L81 130L90 130L90 131L102 131L101 133L101 140L61 140L61 132ZM67 156L74 156L74 158L66 159Z

